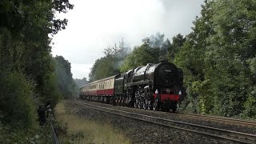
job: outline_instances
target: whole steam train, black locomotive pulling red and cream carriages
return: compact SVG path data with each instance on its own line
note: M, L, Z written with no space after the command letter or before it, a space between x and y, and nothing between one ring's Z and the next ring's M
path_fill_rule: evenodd
M80 88L79 97L121 106L175 112L178 102L183 100L182 83L182 69L162 61L90 82Z

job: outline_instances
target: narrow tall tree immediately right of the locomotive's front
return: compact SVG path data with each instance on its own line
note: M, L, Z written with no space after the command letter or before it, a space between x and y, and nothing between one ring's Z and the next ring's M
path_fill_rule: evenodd
M195 18L192 32L186 36L186 42L174 58L174 63L184 71L187 97L183 105L186 110L196 113L209 113L214 105L212 91L209 89L211 82L205 79L204 72L206 46L209 45L206 38L214 34L210 21L214 14L212 4L212 1L206 0L202 5L201 17Z

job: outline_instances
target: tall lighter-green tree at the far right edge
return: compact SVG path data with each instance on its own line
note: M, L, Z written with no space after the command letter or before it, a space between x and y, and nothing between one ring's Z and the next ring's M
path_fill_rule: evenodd
M217 1L213 5L214 34L207 38L206 78L214 89L214 113L255 116L254 73L255 1Z

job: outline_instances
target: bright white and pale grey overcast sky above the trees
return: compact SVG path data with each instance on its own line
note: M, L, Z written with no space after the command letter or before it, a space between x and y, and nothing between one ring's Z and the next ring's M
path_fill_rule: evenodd
M88 78L107 46L122 38L131 47L160 32L166 38L189 34L203 0L70 0L66 30L53 38L52 54L71 62L73 78Z

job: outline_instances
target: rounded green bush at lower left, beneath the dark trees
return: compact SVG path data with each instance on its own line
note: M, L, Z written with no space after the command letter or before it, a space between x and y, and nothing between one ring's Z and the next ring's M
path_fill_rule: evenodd
M37 119L33 82L17 72L2 73L0 78L2 123L21 129L32 127Z

